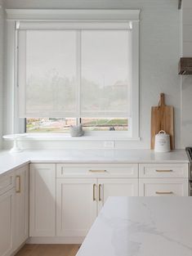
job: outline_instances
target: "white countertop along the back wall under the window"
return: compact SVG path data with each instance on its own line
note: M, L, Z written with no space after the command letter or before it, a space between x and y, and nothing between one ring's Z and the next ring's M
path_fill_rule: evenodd
M189 163L185 150L24 150L0 151L0 174L29 163Z

